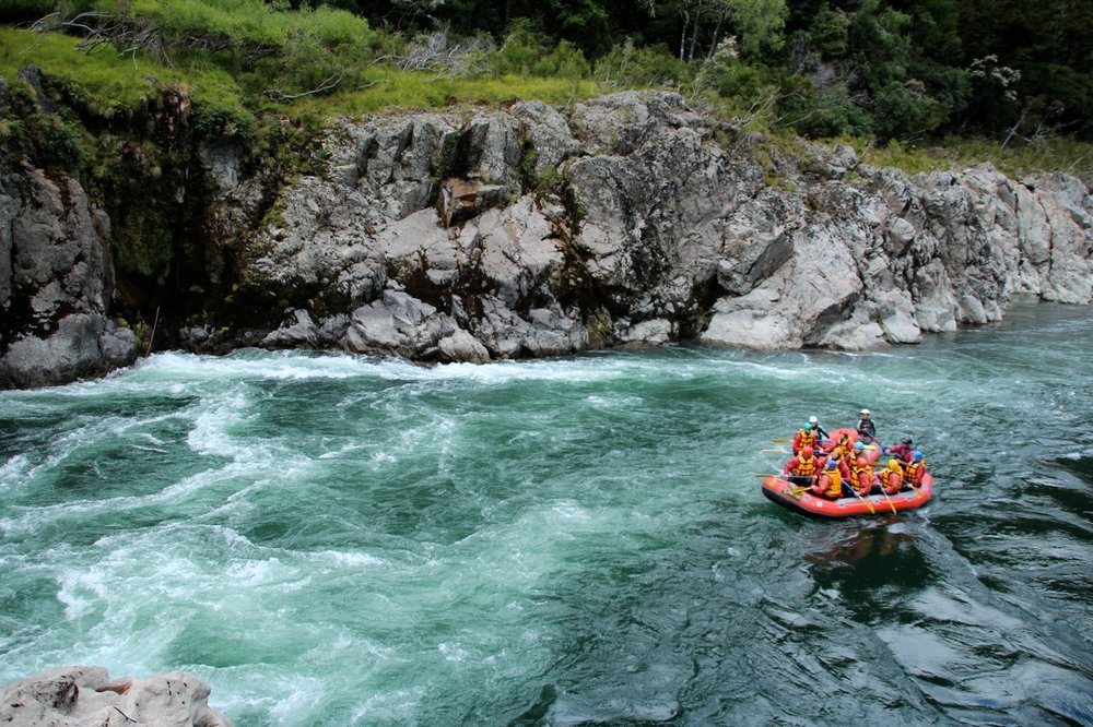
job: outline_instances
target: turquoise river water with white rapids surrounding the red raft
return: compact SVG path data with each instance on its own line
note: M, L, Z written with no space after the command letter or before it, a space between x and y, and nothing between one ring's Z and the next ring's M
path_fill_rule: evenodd
M157 354L0 393L0 683L254 725L1093 725L1093 317L849 355ZM935 500L765 500L810 415Z

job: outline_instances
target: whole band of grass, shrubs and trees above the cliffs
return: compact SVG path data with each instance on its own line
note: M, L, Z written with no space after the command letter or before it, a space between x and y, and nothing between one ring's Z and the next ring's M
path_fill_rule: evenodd
M1093 140L1089 0L3 0L0 22L203 83L213 126L389 85L385 67L569 80L571 96L677 87L812 138ZM420 103L400 83L372 105Z

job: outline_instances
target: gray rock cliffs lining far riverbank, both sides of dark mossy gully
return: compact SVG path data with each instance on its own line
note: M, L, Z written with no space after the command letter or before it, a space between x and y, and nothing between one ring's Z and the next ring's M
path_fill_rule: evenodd
M231 289L173 324L193 350L867 349L997 321L1014 296L1093 300L1093 198L1076 178L912 178L847 146L779 151L671 93L343 121L260 224L268 179L238 156L200 153L210 234L245 243ZM108 221L71 179L15 176L0 186L0 306L34 315L0 332L0 384L132 360L106 317Z

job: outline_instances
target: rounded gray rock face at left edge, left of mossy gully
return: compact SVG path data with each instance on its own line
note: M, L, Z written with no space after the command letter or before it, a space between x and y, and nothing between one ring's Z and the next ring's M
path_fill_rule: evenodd
M131 364L108 315L109 221L63 175L0 168L0 389L66 383Z

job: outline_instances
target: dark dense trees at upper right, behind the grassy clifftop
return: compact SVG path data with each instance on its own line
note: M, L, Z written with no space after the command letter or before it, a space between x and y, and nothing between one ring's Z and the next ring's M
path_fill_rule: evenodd
M1093 134L1086 0L341 0L377 25L504 38L522 24L589 61L776 104L809 135ZM628 45L627 45L628 44ZM686 64L672 71L667 58ZM646 68L645 72L649 70Z

